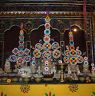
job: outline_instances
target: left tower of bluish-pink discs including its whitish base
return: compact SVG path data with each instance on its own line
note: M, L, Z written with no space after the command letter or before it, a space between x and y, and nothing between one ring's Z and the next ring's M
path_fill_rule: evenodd
M31 60L30 50L24 47L24 31L23 23L21 24L21 30L19 35L19 46L12 50L13 55L10 55L7 62L15 63L15 69L13 70L17 76L29 78L31 77L31 69L27 65ZM7 68L6 68L7 66ZM8 63L5 64L5 70L9 70ZM11 69L11 68L10 68ZM8 73L8 72L7 72ZM15 75L15 74L14 74Z

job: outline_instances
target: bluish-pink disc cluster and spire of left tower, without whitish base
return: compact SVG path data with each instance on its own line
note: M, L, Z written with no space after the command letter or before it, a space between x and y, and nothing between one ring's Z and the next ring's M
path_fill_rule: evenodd
M23 26L23 25L21 25ZM30 50L28 48L24 48L24 31L20 30L19 35L19 46L18 48L14 48L12 50L13 55L10 55L9 61L16 62L17 65L21 65L27 62L30 62L31 56Z

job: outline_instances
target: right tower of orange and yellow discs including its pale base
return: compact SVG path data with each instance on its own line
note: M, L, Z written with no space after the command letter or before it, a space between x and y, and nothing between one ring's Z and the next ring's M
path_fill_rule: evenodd
M75 48L73 32L69 32L69 46L66 46L64 51L64 62L68 64L67 71L64 73L66 77L71 78L71 80L79 80L78 76L80 75L79 65L83 62L82 52L79 50L79 46Z

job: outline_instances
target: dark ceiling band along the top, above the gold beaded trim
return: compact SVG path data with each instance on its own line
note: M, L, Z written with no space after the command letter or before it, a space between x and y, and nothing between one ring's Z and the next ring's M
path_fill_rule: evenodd
M0 0L0 11L83 11L84 0ZM2 4L3 3L3 4ZM95 0L87 0L87 12L95 12Z

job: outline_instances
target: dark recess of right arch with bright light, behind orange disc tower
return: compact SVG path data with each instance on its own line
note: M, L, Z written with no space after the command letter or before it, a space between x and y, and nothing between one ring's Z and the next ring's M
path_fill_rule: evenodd
M69 31L70 29L66 29L64 31L65 45L69 44ZM71 31L73 32L75 47L79 46L82 52L86 52L85 31L82 30L78 25L72 25Z

